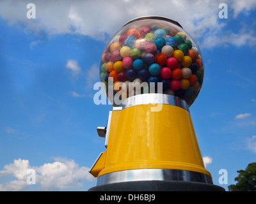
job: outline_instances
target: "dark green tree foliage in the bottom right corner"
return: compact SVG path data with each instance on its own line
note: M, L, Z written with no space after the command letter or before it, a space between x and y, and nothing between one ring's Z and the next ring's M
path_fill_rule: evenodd
M245 170L237 171L236 184L228 186L228 191L256 191L256 163L250 163Z

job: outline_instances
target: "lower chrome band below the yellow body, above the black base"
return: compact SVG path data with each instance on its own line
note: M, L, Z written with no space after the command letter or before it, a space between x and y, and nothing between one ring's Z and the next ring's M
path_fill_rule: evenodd
M117 182L131 182L139 180L180 180L212 184L212 178L204 173L187 170L170 169L138 169L115 171L100 176L96 186Z

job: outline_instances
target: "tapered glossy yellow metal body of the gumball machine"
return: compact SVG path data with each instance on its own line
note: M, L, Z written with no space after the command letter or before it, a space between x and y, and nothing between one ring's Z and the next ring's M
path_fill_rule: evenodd
M161 111L152 112L154 106L113 110L108 149L99 159L97 169L92 168L95 176L150 168L196 171L211 176L204 168L188 110L163 104Z

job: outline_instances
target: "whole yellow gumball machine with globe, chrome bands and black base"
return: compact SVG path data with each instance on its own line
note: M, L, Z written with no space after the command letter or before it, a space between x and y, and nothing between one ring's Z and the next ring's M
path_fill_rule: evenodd
M164 17L131 20L103 51L100 80L113 105L89 191L223 191L204 167L189 106L204 80L198 45Z

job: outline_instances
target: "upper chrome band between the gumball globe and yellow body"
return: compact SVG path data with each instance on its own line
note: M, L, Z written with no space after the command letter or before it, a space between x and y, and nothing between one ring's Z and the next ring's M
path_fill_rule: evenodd
M183 99L168 94L138 94L131 96L122 101L122 110L131 106L143 105L143 104L167 104L173 106L179 106L189 112L189 106Z

